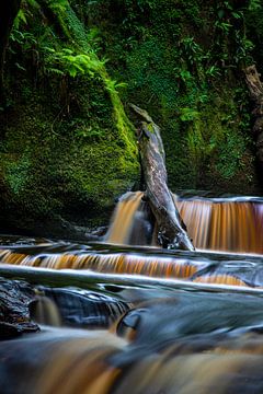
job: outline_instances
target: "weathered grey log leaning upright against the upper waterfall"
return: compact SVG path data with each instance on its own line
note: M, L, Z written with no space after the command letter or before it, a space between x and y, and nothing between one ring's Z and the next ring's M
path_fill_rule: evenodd
M165 248L193 251L194 246L182 227L182 219L168 188L165 155L160 128L146 111L134 104L130 104L130 107L141 120L138 143L146 184L146 198L157 220L158 242Z

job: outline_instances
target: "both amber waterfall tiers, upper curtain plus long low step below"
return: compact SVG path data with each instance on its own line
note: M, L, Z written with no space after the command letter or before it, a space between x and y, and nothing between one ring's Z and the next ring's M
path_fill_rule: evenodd
M174 204L198 253L169 253L165 250L160 252L152 247L139 247L157 245L157 225L144 193L137 192L125 194L117 204L105 237L106 244L5 245L0 247L0 263L89 270L100 275L139 275L196 283L263 285L261 256L243 257L244 254L263 253L261 199L186 199L174 196ZM135 248L135 245L139 246ZM225 257L218 254L213 256L208 251L225 252ZM235 252L241 256L235 257Z

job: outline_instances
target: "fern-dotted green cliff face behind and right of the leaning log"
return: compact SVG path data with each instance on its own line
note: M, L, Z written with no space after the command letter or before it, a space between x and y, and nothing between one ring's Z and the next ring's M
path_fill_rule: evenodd
M124 101L161 126L171 188L260 193L243 73L262 59L260 2L106 4L90 3L90 23L112 74L128 82Z

